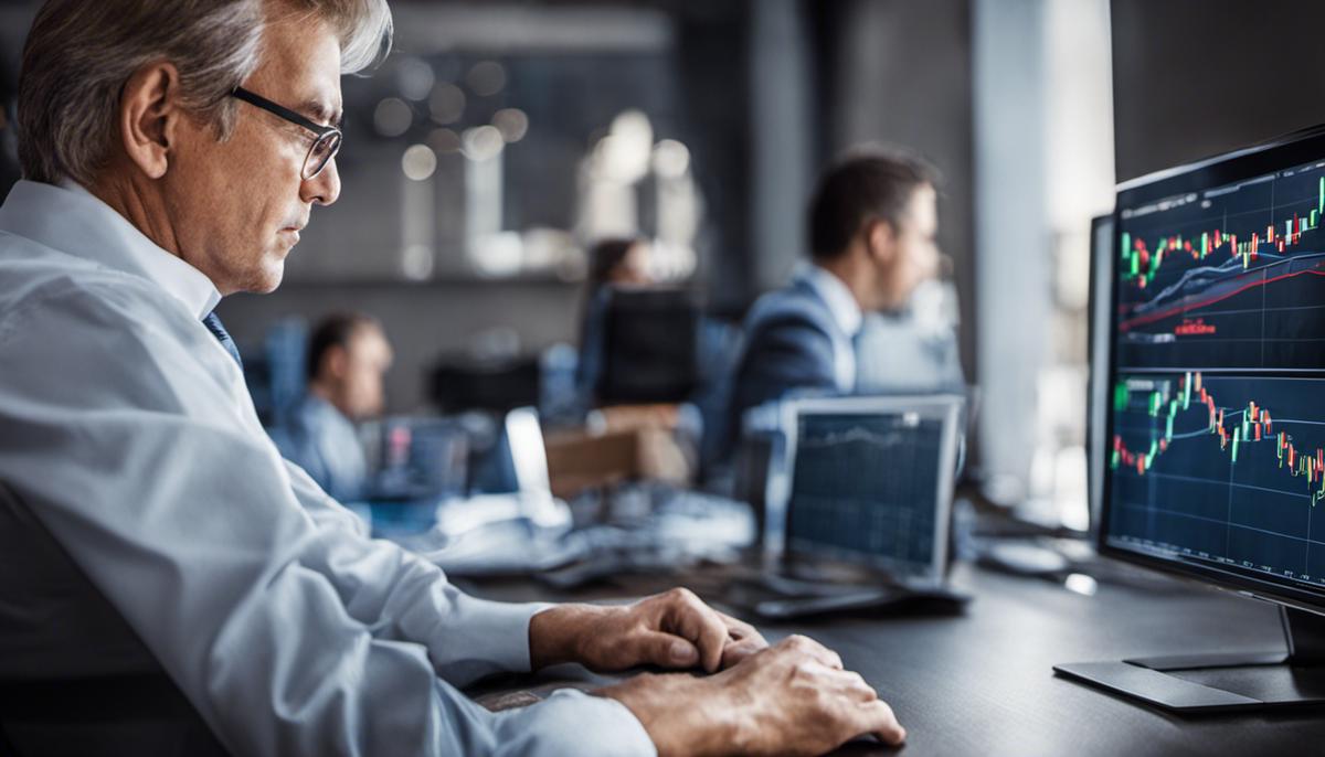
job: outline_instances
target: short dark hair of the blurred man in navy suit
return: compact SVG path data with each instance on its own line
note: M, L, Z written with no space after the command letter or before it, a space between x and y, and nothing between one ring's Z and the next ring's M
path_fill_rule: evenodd
M819 179L810 201L810 253L829 259L845 251L869 218L894 228L920 187L938 187L938 171L896 148L853 151Z

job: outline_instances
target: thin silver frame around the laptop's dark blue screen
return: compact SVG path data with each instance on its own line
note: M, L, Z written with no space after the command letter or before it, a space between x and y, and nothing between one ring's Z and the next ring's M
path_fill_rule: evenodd
M961 394L916 394L916 396L885 396L885 397L815 397L791 400L783 405L783 434L786 445L783 449L783 487L782 496L782 535L780 556L784 564L791 562L837 562L851 564L873 570L881 570L901 582L917 586L939 586L947 578L947 548L949 533L951 531L953 512L953 486L957 471L957 446L962 408L966 398ZM878 413L897 414L917 412L925 417L942 421L938 461L938 482L934 492L935 527L934 549L931 552L929 568L924 573L893 574L890 568L896 565L892 560L871 560L868 555L853 551L806 551L791 547L791 499L795 488L796 474L796 445L800 435L802 416L871 416Z

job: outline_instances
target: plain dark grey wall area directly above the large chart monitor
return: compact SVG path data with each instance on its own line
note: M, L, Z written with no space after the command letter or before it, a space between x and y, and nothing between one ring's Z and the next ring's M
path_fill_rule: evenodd
M1113 0L1118 180L1325 122L1320 0Z

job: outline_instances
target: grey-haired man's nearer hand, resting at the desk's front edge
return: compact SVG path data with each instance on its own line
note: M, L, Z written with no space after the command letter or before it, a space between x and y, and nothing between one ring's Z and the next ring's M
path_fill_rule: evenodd
M823 754L867 733L906 738L874 690L806 637L712 678L640 675L596 693L629 708L661 757Z

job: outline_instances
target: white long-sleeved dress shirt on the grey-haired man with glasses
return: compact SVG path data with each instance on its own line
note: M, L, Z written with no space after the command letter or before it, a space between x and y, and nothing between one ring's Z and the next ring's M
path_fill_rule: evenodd
M0 678L155 664L235 754L652 754L610 699L457 691L527 671L542 606L462 594L282 461L200 323L219 299L82 189L0 208L0 484L115 610L57 629L80 607L5 570ZM5 565L41 558L21 524Z

